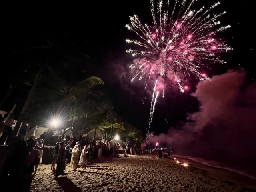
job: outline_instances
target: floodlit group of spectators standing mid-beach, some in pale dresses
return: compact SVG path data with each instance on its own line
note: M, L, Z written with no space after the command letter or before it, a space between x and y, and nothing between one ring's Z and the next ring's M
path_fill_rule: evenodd
M87 137L79 142L71 139L67 144L64 142L57 142L53 150L51 170L55 173L55 178L64 172L66 166L70 162L70 168L77 170L78 164L81 167L86 166L88 162L96 159L103 163L106 158L110 161L114 155L118 155L120 145L115 142L90 141ZM55 169L55 164L57 164Z

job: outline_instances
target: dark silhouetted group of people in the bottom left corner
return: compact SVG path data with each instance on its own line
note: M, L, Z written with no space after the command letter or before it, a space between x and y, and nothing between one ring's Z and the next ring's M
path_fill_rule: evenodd
M18 137L19 138L19 137ZM44 140L18 140L4 160L0 174L2 191L30 191L32 178L43 155Z

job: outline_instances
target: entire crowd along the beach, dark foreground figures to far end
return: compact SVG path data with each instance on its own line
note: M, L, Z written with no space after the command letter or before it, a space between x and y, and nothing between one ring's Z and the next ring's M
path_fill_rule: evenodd
M43 133L38 139L17 137L11 154L4 160L0 182L3 191L20 190L30 191L33 176L37 173L38 164L43 156L44 137ZM78 137L77 137L78 138ZM130 154L146 154L146 150L127 148L126 145L108 141L90 141L87 137L71 138L65 142L57 142L52 154L51 170L55 178L63 174L66 166L74 171L80 166L96 160L104 163L106 159L112 162L114 156L119 156L119 150L124 149L124 156L130 150ZM70 163L70 164L69 164ZM69 165L68 165L69 164ZM15 183L16 185L12 185Z

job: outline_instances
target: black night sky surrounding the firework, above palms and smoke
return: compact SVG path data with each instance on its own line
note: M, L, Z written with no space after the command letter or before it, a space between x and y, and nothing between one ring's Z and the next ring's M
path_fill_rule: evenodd
M200 8L214 2L198 0L195 5ZM125 39L132 38L133 35L125 28L125 24L129 23L129 16L134 14L145 22L151 22L150 1L85 1L84 4L79 5L69 2L58 6L32 7L23 4L20 7L10 8L7 26L4 28L12 48L10 57L12 58L12 53L20 48L41 45L45 38L58 39L68 34L70 41L77 44L78 48L89 56L85 63L88 75L98 75L103 78L106 83L104 92L112 100L118 114L127 122L145 131L148 127L150 95L143 93L136 85L127 84L127 80L118 79L118 70L113 70L113 67L126 66L132 62L132 58L125 54L128 48ZM221 10L227 11L221 22L232 26L221 35L234 50L223 55L227 64L223 66L216 64L211 67L212 70L206 72L209 76L213 76L241 66L248 72L248 81L255 80L255 64L252 62L255 31L252 1L235 3L231 0L223 0L216 12ZM10 59L7 65L14 67L19 63ZM3 77L5 74L1 78ZM159 100L151 125L152 131L166 132L168 128L184 121L187 113L198 110L197 100L190 96L197 83L194 80L190 82L190 92L186 94L170 90L167 92L167 98ZM124 88L126 85L136 95ZM12 108L12 105L5 108Z

